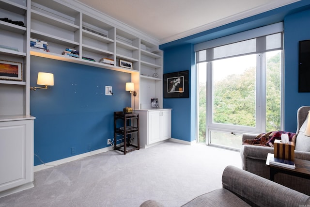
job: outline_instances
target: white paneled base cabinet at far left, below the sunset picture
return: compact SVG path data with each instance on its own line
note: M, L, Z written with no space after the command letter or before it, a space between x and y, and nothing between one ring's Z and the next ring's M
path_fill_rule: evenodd
M33 119L0 116L0 197L33 187Z

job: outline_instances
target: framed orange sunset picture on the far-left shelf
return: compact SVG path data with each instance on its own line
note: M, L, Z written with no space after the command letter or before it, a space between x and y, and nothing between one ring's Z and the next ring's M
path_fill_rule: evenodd
M22 81L22 63L0 60L0 80Z

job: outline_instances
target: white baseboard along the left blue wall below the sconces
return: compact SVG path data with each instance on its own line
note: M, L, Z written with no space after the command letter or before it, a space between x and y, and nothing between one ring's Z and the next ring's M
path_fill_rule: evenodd
M92 156L92 155L96 155L96 154L99 154L99 153L108 152L110 150L113 150L112 146L101 148L101 149L97 149L97 150L90 151L90 152L86 152L86 153L79 154L79 155L76 155L76 156L72 156L72 157L69 157L69 158L59 159L59 160L48 162L48 163L45 163L45 164L36 165L36 166L33 167L33 172L37 172L37 171L40 171L40 170L51 168L51 167L54 167L54 166L57 166L57 165L60 165L60 164L66 163L66 162L71 162L71 161L74 161L74 160L77 160L77 159L86 158L86 157L89 157L89 156Z

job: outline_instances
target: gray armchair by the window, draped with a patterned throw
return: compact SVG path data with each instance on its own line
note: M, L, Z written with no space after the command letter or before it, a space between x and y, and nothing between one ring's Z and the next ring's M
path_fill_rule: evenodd
M310 160L310 137L304 135L308 123L310 106L302 106L297 111L297 130L295 143L295 158ZM242 141L255 139L257 134L243 134ZM241 148L242 168L248 172L269 178L269 167L266 166L268 153L274 153L273 147L243 145ZM278 173L275 182L296 191L310 195L310 180L293 175Z

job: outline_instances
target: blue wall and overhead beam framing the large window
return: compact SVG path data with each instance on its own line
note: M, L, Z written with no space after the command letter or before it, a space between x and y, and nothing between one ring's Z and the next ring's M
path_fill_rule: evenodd
M310 39L310 1L295 3L250 16L208 31L160 45L164 50L164 73L191 69L190 100L164 99L164 108L172 108L172 137L196 139L196 69L193 45L222 36L284 21L284 130L295 131L296 112L300 106L310 105L309 93L298 93L298 41ZM193 77L195 76L195 77ZM190 136L191 135L191 136Z

